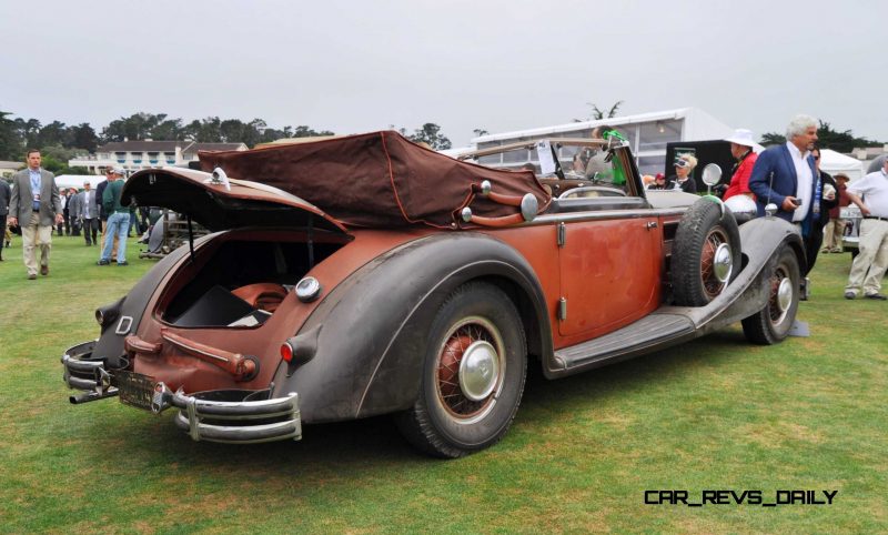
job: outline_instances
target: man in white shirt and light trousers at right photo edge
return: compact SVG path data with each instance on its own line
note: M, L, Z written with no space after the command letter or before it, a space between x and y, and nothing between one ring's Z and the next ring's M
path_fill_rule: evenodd
M860 254L851 264L845 299L857 297L862 286L864 297L886 301L888 296L880 290L888 268L888 158L879 171L852 183L846 193L864 219L860 221Z

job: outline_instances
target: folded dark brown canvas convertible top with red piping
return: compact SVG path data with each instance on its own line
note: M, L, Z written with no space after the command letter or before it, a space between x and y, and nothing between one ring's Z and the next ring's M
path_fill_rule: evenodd
M460 216L464 206L485 218L519 212L473 193L472 185L484 180L494 193L532 193L539 212L552 200L531 171L460 162L394 131L251 151L201 151L199 158L204 171L220 166L230 178L273 185L352 226L466 228L473 225Z

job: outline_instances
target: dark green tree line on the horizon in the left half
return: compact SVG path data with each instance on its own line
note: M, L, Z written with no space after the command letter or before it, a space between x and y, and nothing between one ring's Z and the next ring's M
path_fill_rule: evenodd
M432 149L450 149L451 141L441 133L441 127L425 123L408 133L406 129L394 130L415 142L427 143ZM13 118L11 112L0 111L0 160L24 161L29 148L38 148L43 155L44 168L52 172L71 172L67 162L75 154L95 153L104 143L113 141L196 141L200 143L244 143L249 148L286 138L335 135L330 130L311 127L269 127L263 119L244 122L240 119L208 117L185 122L167 113L138 112L111 121L99 132L88 122L68 125L61 121L41 124L37 119ZM56 169L53 169L56 168Z

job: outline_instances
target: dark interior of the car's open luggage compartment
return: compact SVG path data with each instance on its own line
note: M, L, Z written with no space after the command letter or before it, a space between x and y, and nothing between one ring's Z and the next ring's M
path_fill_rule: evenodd
M343 243L232 239L200 251L161 303L163 321L176 326L254 326L274 313L284 295ZM184 281L184 279L190 279Z

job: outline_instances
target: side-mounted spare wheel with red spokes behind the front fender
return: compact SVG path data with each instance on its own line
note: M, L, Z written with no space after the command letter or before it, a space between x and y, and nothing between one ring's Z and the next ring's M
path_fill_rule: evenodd
M730 252L724 281L714 263L722 244ZM730 210L723 214L720 203L708 198L695 202L678 223L669 271L676 304L704 306L717 297L740 271L740 231Z

